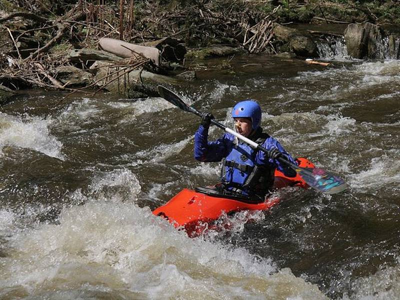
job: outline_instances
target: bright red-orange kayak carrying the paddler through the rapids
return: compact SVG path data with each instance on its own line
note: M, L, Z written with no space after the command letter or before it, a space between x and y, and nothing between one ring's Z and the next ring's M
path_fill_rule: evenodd
M297 158L300 167L314 167L306 158ZM308 188L308 184L297 174L286 177L282 172L275 171L274 187L299 186ZM263 202L221 195L215 188L199 187L196 190L182 189L166 204L154 209L153 214L162 216L175 227L183 228L190 237L200 235L209 228L223 212L231 213L240 210L267 210L280 201L278 197L267 197Z

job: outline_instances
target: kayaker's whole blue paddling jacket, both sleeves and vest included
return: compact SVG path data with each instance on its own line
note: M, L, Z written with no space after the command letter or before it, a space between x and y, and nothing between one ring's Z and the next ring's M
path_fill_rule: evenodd
M281 144L262 132L258 127L249 139L264 148L277 148L286 159L296 164ZM230 133L224 133L215 141L208 141L208 128L200 125L194 134L194 158L199 161L221 161L221 183L225 190L264 199L272 189L274 172L277 168L286 176L294 177L296 172L263 151L253 149Z

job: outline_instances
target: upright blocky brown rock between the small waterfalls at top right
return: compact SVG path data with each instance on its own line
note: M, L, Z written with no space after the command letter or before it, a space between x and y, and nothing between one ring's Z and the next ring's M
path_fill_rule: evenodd
M372 23L348 24L344 30L347 52L353 58L379 58L382 29Z

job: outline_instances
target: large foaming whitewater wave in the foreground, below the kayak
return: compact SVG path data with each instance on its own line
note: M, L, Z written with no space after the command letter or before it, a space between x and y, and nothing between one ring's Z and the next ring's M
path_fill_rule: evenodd
M276 270L243 248L190 239L134 203L64 208L58 225L16 232L9 245L1 297L79 290L83 298L325 298L289 269Z

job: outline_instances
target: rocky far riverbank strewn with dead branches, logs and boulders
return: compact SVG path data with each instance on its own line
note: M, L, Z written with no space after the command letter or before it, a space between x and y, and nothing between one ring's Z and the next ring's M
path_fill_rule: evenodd
M194 79L191 66L209 56L315 58L318 39L337 35L288 26L298 21L350 23L343 35L353 58L379 58L384 38L399 56L397 33L379 26L398 21L392 1L25 2L0 0L2 102L36 87L144 97L155 84Z

